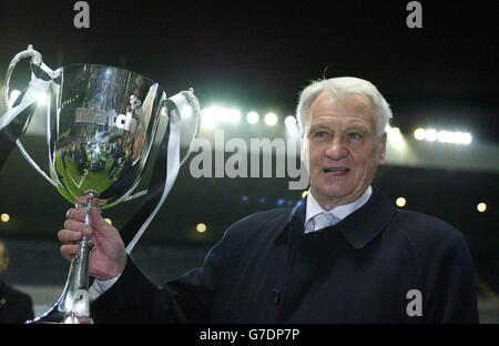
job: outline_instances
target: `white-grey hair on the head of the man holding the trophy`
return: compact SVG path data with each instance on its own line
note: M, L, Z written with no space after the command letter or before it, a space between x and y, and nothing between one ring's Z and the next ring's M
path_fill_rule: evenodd
M327 80L313 81L306 86L298 101L296 108L296 115L298 118L302 134L305 132L308 121L308 111L314 100L324 91L332 91L338 98L340 95L360 94L367 96L374 109L376 115L376 133L381 136L385 133L385 128L394 118L391 114L390 105L386 102L381 93L369 81L354 78L354 77L339 77Z

